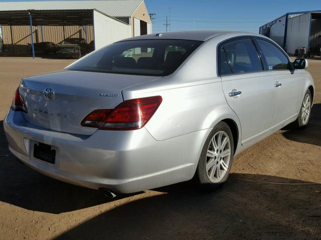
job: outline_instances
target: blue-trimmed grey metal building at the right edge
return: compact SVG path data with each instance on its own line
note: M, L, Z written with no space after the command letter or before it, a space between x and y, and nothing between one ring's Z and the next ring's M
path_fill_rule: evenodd
M276 41L290 55L300 47L320 55L321 10L288 12L260 27L260 34Z

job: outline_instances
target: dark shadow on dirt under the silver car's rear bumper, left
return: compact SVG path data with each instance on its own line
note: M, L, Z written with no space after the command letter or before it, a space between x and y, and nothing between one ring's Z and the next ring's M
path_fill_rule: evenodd
M3 121L0 121L0 201L58 214L113 200L98 190L55 180L19 162L8 149Z

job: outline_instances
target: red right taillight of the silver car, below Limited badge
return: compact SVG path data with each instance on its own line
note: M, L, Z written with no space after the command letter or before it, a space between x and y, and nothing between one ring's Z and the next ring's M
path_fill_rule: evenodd
M143 127L162 102L161 96L151 96L123 101L115 109L99 109L89 113L82 126L102 130L134 130Z

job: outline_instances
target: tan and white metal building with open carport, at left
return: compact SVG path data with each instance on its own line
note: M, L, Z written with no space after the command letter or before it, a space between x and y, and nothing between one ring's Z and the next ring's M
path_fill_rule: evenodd
M26 52L33 41L69 37L93 41L97 49L151 31L143 0L0 2L0 51Z

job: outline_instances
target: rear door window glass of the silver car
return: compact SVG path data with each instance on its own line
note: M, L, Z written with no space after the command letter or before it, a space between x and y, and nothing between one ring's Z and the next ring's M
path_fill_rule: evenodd
M251 39L239 39L224 44L233 73L263 70L261 60Z

